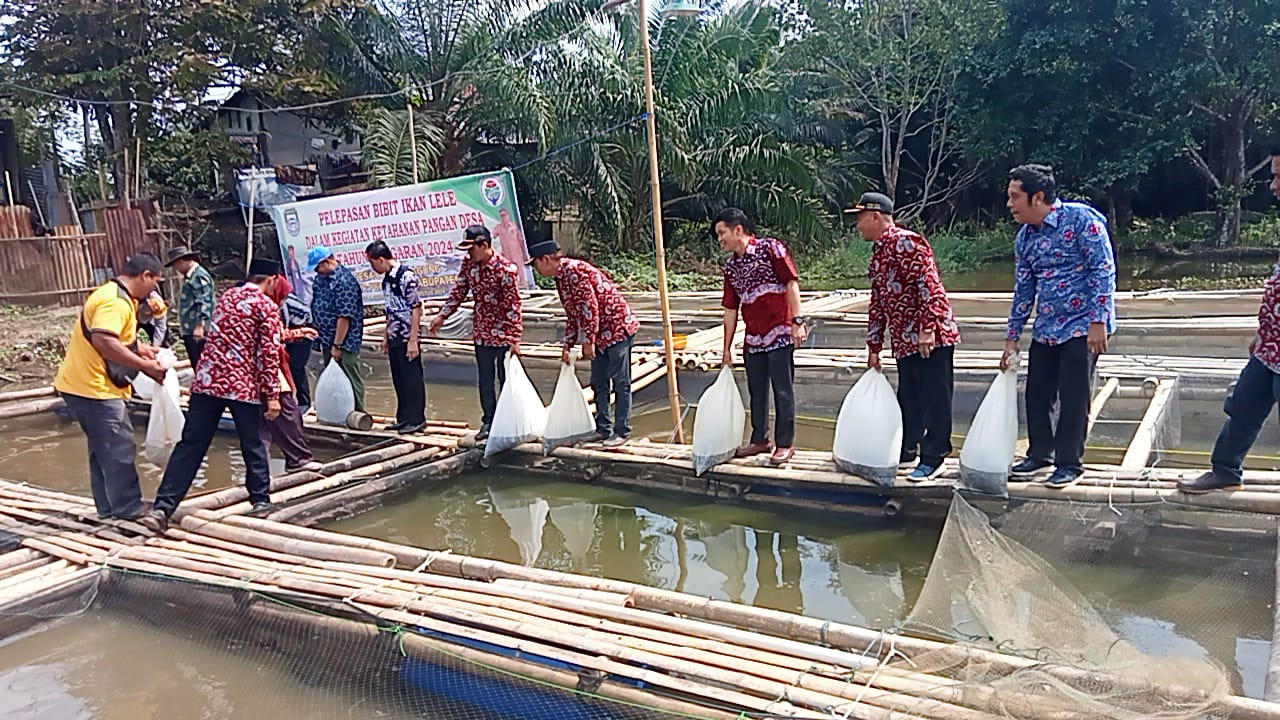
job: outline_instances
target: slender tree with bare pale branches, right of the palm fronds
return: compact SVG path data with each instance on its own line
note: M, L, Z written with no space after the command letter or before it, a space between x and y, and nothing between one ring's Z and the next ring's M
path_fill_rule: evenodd
M846 151L873 158L868 184L910 220L980 178L964 164L957 83L998 26L980 0L804 1L805 111L845 127Z

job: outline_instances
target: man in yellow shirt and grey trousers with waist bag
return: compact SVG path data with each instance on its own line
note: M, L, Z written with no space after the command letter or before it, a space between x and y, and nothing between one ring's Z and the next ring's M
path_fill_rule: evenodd
M95 290L81 310L54 388L88 437L90 487L100 518L134 519L146 510L133 460L137 443L124 401L138 373L164 380L156 348L137 342L138 300L164 277L160 260L141 252L120 275Z

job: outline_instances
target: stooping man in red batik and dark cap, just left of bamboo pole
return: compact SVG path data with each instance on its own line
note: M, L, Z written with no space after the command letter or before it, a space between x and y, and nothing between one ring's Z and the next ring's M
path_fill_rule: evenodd
M640 320L631 311L609 275L586 260L564 258L559 243L544 240L529 246L529 261L538 274L556 278L556 291L564 306L564 351L582 345L582 357L591 361L595 392L595 438L617 447L631 437L631 346ZM613 418L609 418L609 396Z

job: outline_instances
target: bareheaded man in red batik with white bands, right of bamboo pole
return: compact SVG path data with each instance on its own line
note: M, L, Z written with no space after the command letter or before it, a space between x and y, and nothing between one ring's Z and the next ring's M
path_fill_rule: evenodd
M809 337L800 315L800 273L781 241L755 237L751 220L737 208L726 208L712 224L724 261L724 354L733 363L733 333L739 309L746 322L742 363L751 395L751 442L739 457L773 451L769 462L782 465L795 455L795 346ZM774 439L769 442L769 387L773 387Z

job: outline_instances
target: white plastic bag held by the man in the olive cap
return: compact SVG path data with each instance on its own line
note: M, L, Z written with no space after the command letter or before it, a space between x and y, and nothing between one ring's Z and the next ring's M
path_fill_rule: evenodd
M879 370L867 370L840 406L831 455L841 470L893 487L901 454L902 410L893 386Z

